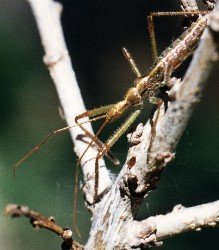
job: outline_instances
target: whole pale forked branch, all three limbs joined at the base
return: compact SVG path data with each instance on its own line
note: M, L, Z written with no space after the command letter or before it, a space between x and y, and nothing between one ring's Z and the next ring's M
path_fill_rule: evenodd
M66 120L72 125L74 117L84 112L85 108L63 38L60 5L52 0L28 1L46 51L44 62L55 82ZM188 2L192 4L192 1ZM174 158L176 145L199 102L213 65L218 60L218 43L215 39L219 31L218 9L211 14L209 27L183 81L177 81L174 91L171 90L176 100L169 104L167 112L161 106L154 114L153 119L157 122L153 140L150 121L144 127L138 127L134 138L130 137L133 146L128 152L126 163L110 191L93 206L92 228L85 248L136 249L158 246L161 240L176 234L218 226L219 201L191 208L177 206L169 214L149 217L143 221L135 220L142 200L156 188L164 167ZM90 125L87 126L91 129ZM86 144L76 139L81 133L79 128L71 130L79 156L86 148ZM93 200L94 191L94 161L88 160L95 158L96 154L91 148L82 162L85 182L88 176L92 177L85 190L87 201ZM100 165L103 166L103 162ZM101 190L107 190L111 185L105 167L100 169L100 183Z

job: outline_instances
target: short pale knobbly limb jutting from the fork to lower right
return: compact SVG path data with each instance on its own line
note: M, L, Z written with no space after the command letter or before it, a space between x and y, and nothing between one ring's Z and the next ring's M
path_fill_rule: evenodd
M144 245L162 244L161 240L188 231L201 231L206 227L219 226L219 201L185 208L176 205L166 215L149 217L130 223L127 242L132 248Z

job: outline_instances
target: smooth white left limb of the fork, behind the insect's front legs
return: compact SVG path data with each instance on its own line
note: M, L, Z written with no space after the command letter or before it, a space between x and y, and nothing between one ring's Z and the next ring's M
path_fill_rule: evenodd
M62 6L53 0L28 0L28 2L33 10L45 50L44 63L48 67L57 89L66 122L68 126L72 126L75 123L75 116L85 112L86 109L64 40L60 21ZM85 127L93 133L90 123L87 123ZM79 127L74 127L70 129L70 134L75 145L74 150L80 157L87 144L77 138L84 133ZM94 160L96 155L97 151L90 147L81 161L86 184L84 191L86 192L86 200L90 203L93 203L94 197ZM99 164L101 166L99 192L102 193L111 186L111 180L104 161L100 160Z

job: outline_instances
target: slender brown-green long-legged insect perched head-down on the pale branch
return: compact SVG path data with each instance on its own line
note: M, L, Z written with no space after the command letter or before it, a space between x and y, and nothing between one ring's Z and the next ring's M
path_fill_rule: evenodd
M188 12L174 12L176 15L189 14ZM200 14L200 12L192 12L192 14ZM162 15L162 14L160 14ZM158 14L152 13L149 16L149 29L152 44L155 44L153 17ZM111 147L116 141L127 131L132 123L137 119L141 113L143 98L149 98L152 103L156 103L156 94L159 89L168 84L171 74L177 69L181 63L193 52L196 47L206 25L208 14L201 16L196 22L194 22L178 39L176 39L162 54L157 58L157 52L153 49L154 58L157 58L154 65L149 72L142 75L138 70L134 59L127 49L123 48L123 53L128 60L133 72L136 75L134 86L129 88L126 92L124 99L116 104L103 106L97 109L86 111L75 118L76 125L79 126L86 134L91 138L90 143L78 160L77 167L80 165L81 159L86 154L89 147L95 143L98 147L97 157L95 159L95 187L94 187L94 203L98 201L98 180L99 180L99 165L98 161L104 155L108 156L114 163L118 163L116 158L110 152ZM156 46L155 46L156 47ZM109 124L119 119L131 107L136 110L126 119L126 121L109 137L109 139L103 143L98 137L103 132L104 128ZM105 119L95 135L92 135L83 126L85 122L80 122L81 119L89 117L89 121L96 121L99 119ZM33 153L38 151L46 141L55 134L64 132L71 127L62 128L50 133L42 142L34 147L29 153L25 154L14 166L14 171L21 165L27 158ZM77 186L77 185L76 185ZM75 205L76 207L76 205ZM76 209L74 209L76 210ZM74 220L76 222L76 219Z

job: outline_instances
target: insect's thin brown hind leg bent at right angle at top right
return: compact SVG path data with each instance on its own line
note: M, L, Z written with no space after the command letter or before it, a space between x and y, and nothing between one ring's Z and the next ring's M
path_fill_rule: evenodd
M151 40L151 50L152 50L152 57L153 61L157 60L158 53L157 53L157 42L155 36L155 25L154 25L154 17L161 17L161 16L185 16L185 15L199 15L199 14L206 14L207 11L172 11L172 12L152 12L147 17L148 20L148 31Z

